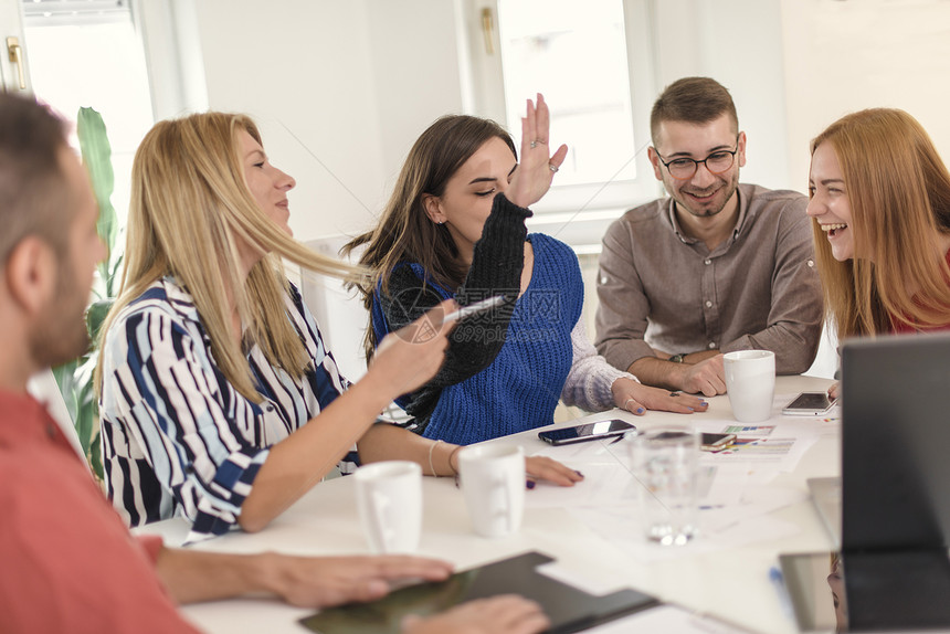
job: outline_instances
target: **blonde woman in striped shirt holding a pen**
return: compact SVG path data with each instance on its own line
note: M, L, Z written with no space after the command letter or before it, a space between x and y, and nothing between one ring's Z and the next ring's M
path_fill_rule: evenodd
M191 539L260 530L341 461L456 471L457 447L374 424L435 373L444 329L416 337L420 319L387 338L348 384L281 258L353 270L292 239L294 184L242 115L161 121L136 152L122 290L97 369L107 493L131 526L183 515ZM423 319L439 327L448 306ZM542 458L529 472L579 479Z

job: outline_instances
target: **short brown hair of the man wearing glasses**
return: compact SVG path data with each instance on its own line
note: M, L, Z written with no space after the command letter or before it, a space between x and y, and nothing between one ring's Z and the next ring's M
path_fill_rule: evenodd
M650 134L657 144L659 124L686 121L708 124L724 114L729 115L739 131L736 104L726 87L710 77L683 77L666 86L650 113Z

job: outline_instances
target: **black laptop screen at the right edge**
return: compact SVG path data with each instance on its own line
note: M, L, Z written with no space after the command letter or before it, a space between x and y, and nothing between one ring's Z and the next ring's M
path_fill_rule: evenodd
M845 342L842 487L843 551L946 549L950 335Z

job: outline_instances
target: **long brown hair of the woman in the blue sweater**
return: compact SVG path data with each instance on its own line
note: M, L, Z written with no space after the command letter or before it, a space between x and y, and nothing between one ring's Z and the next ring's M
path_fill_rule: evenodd
M428 275L425 282L434 282L444 288L454 290L465 281L468 265L458 257L448 230L426 215L423 197L444 194L445 184L458 168L493 138L504 140L517 159L515 142L505 128L479 117L444 116L416 139L379 223L340 251L347 255L367 245L359 263L371 271L371 278L351 284L362 295L367 310L372 307L372 295L380 283L383 292L388 292L389 275L401 262L421 264ZM370 327L365 340L367 358L376 344Z

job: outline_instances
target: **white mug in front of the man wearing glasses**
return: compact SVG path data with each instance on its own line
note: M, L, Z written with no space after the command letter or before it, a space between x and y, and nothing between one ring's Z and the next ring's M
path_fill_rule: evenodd
M722 357L726 392L740 423L761 423L772 415L775 395L775 353L737 350Z

